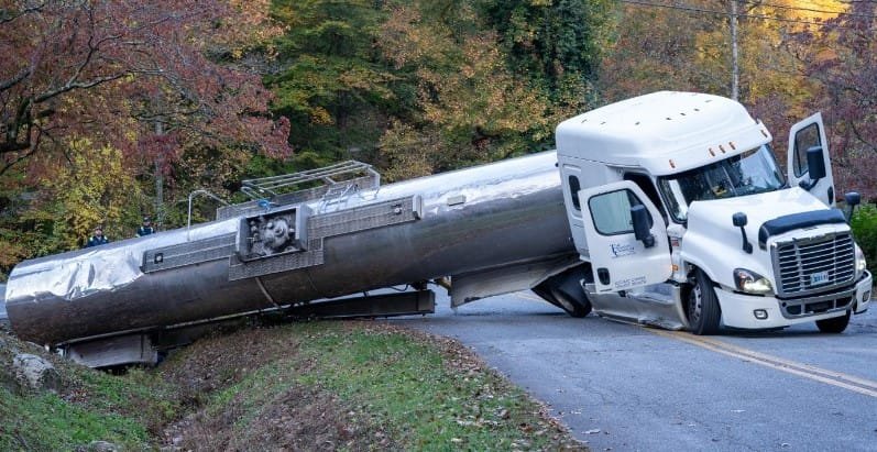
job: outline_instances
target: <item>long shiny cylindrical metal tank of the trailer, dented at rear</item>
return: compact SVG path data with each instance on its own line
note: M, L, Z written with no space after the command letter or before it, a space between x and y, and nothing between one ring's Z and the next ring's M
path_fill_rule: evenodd
M578 257L553 152L226 209L217 221L20 263L6 306L54 345ZM497 289L498 290L498 289Z

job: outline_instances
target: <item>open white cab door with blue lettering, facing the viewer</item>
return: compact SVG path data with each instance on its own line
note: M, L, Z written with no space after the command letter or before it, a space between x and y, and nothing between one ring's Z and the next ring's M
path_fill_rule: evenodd
M629 180L579 191L584 235L598 293L629 290L666 282L672 273L667 229L643 190ZM650 240L637 240L632 208L648 214Z

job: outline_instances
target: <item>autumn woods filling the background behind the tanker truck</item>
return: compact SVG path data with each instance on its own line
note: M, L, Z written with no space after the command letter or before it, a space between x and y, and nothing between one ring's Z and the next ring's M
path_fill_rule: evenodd
M97 224L185 225L198 188L538 152L560 120L658 89L738 91L781 158L821 110L836 192L873 200L875 27L873 1L0 0L0 280Z

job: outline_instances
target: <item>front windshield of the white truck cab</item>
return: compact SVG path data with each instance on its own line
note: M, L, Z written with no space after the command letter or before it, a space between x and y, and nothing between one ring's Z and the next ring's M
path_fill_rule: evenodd
M658 178L669 213L686 221L693 201L774 191L786 185L774 151L764 144L733 157L672 176Z

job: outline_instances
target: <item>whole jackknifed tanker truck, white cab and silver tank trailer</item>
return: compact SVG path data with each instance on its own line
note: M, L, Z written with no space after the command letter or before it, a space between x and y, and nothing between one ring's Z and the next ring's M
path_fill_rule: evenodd
M841 332L867 309L819 114L792 126L787 172L764 124L702 93L610 104L556 141L386 186L355 162L244 181L253 200L215 221L22 262L6 289L13 332L92 366L150 363L232 317L431 312L428 283L454 307L533 289L573 317L698 334Z

